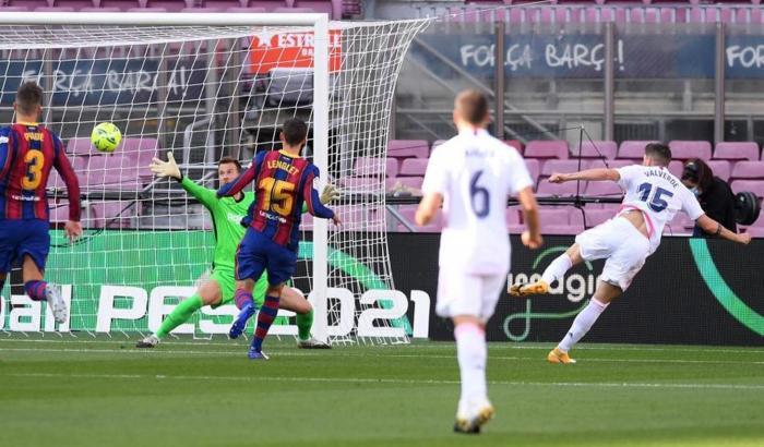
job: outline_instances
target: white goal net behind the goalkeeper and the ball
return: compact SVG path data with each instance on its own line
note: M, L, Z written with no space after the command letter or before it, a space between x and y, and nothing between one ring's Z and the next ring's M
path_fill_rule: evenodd
M51 171L46 279L61 287L70 319L56 325L45 303L27 299L15 267L2 292L1 330L156 330L208 274L215 228L177 182L152 176L152 158L172 152L186 177L214 190L220 157L247 167L254 153L278 148L280 124L297 117L309 123L303 155L321 169L317 188L332 182L343 191L331 205L343 227L303 219L293 286L317 307L314 330L334 342L407 341L407 302L394 291L385 237L385 152L397 74L428 22L332 22L321 35L325 27L305 17L278 15L251 14L246 26L240 15L237 26L216 26L225 23L211 19L216 14L164 15L154 25L142 21L156 17L130 14L141 25L97 26L85 13L72 22L47 14L47 24L0 17L0 123L13 121L22 82L44 88L40 121L64 142L85 229L75 243L63 237L69 201ZM323 48L329 57L318 59ZM111 154L89 142L100 122L122 132ZM232 304L204 307L172 334L227 334L236 313ZM282 314L272 334L297 334L294 318Z

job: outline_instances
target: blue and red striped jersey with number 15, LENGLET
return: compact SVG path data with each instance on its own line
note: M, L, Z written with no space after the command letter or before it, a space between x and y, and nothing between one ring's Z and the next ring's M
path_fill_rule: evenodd
M223 185L218 196L235 195L251 181L255 183L255 201L250 206L250 226L279 245L297 251L300 240L302 203L308 213L331 219L334 213L321 204L313 180L319 168L302 157L283 150L261 152L241 176Z

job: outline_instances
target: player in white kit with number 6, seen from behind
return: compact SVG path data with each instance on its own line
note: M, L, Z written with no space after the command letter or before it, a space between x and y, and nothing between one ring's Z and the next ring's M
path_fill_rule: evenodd
M435 312L454 323L462 377L454 431L479 433L494 412L486 389L485 326L510 269L509 194L517 196L528 226L523 243L537 249L542 240L530 176L520 154L486 131L486 97L462 92L453 119L458 135L433 150L415 220L427 225L443 206Z

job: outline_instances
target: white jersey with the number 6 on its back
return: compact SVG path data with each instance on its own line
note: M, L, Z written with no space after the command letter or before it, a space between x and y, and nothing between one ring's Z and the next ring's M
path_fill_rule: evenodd
M422 191L443 195L440 265L500 274L510 265L506 198L532 186L517 152L485 130L459 132L430 157Z

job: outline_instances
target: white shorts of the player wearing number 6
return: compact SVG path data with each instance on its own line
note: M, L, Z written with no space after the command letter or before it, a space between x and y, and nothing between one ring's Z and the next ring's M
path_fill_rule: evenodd
M508 273L478 275L441 266L435 313L442 317L473 315L488 322L504 290Z

